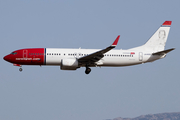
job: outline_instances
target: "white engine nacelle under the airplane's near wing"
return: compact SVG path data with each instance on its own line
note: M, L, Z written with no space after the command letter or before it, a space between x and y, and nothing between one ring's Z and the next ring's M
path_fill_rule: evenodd
M61 70L76 70L78 68L77 59L62 59Z

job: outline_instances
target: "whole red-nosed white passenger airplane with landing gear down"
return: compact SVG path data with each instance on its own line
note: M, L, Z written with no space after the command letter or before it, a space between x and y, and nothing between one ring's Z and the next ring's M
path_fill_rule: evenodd
M112 45L101 50L27 48L13 51L4 60L19 66L19 71L22 71L22 65L54 65L60 66L61 70L85 67L86 74L91 72L90 67L121 67L153 62L175 49L164 50L171 23L165 21L144 45L127 50L112 50L119 41L118 35Z

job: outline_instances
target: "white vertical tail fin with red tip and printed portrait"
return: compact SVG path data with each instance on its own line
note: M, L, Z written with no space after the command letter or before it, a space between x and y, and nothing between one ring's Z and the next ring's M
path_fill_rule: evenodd
M152 52L163 51L166 45L171 23L172 21L165 21L144 45L132 48L131 50L145 50Z

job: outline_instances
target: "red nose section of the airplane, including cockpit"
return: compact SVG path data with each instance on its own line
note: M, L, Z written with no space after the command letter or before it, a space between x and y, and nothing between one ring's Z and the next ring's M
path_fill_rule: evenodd
M20 49L7 55L5 58L8 62L20 65L44 65L45 48L28 48Z

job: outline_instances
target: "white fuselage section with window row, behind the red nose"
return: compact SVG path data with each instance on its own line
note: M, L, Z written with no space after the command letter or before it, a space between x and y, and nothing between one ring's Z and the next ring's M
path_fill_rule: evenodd
M46 48L46 65L61 65L62 59L78 59L92 54L99 49L58 49ZM131 50L111 50L104 54L104 57L96 62L97 66L129 66L152 62L161 58L154 56L151 52ZM81 67L81 66L79 66Z

